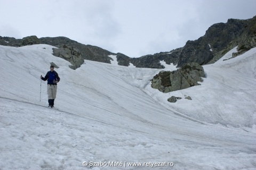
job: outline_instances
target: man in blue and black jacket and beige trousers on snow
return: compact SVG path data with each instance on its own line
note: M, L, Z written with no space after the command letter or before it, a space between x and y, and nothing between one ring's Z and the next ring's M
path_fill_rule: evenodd
M47 80L47 94L48 94L48 102L49 107L54 106L54 99L56 98L57 94L57 83L60 82L60 77L56 71L54 71L54 67L50 67L50 71L47 72L45 77L41 75L41 79L46 81Z

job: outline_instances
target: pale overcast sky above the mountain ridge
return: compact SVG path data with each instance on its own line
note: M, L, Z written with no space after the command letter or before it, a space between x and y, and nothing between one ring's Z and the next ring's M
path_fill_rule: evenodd
M171 51L214 23L256 15L255 0L0 0L0 36L65 36L130 57Z

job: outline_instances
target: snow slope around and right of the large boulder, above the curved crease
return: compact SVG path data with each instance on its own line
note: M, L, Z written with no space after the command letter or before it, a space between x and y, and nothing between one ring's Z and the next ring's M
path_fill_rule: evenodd
M167 94L155 90L148 94L153 94L153 98L166 108L174 107L174 110L197 120L243 129L249 127L247 131L256 133L256 49L223 61L233 52L236 52L236 47L216 63L203 66L207 78L203 78L201 86ZM150 86L147 90L151 91ZM167 99L172 95L183 99L170 104ZM193 100L187 101L186 96Z

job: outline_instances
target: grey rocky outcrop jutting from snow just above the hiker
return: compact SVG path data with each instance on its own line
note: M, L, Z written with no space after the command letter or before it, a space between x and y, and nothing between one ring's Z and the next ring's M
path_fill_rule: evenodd
M84 63L81 53L73 46L62 45L60 48L52 48L52 50L53 55L69 61L72 64L69 66L71 69L75 70Z

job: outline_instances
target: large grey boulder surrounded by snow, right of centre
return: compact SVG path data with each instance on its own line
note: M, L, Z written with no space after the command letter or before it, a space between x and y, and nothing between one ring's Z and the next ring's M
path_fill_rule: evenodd
M204 69L198 63L187 63L175 71L161 71L151 80L151 87L163 93L200 85L205 77Z

